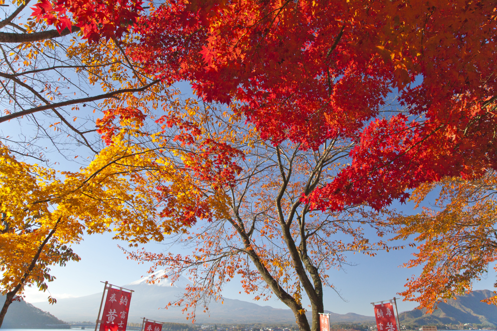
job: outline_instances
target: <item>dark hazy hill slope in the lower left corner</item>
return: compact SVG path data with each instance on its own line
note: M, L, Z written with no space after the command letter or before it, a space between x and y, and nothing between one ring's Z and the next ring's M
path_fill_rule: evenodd
M0 307L5 297L0 298ZM47 325L65 324L55 316L34 307L25 301L14 301L5 314L2 329L43 329Z

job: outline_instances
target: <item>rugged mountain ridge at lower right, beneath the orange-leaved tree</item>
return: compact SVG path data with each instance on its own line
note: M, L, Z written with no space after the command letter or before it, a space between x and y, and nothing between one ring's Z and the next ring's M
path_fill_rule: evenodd
M431 315L426 315L426 309L414 309L399 314L403 325L433 325L433 324L482 324L497 327L497 307L481 302L495 296L489 290L476 290L464 296L458 295L457 300L450 299L441 302Z

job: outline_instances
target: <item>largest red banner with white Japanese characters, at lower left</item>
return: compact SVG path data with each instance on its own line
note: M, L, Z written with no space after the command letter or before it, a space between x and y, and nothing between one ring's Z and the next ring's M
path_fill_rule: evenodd
M126 331L131 292L109 288L103 308L100 331Z

